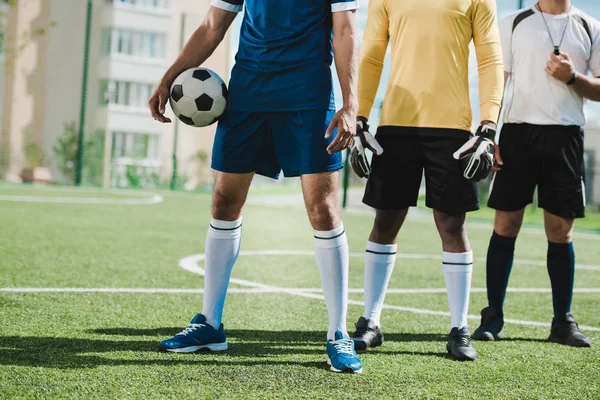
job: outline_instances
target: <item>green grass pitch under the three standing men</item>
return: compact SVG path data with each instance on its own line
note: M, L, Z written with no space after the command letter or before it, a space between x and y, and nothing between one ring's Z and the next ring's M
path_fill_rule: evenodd
M209 195L158 192L157 204L119 204L138 192L0 186L7 196L94 198L97 204L0 200L0 398L600 398L600 235L576 235L573 311L592 341L573 349L545 341L551 296L543 231L525 229L517 242L508 293L506 339L475 342L472 363L449 359L445 293L401 289L444 287L440 240L433 223L413 219L399 236L400 257L382 316L386 341L361 354L363 374L331 373L326 365L326 310L317 291L304 295L232 284L224 313L230 350L160 353L157 344L201 309L201 275L180 260L201 254ZM27 197L29 198L29 197ZM40 199L38 199L40 200ZM116 201L115 201L116 200ZM112 201L112 203L111 203ZM345 213L350 288L361 289L369 214ZM598 227L600 228L600 227ZM473 288L485 287L491 226L470 221ZM305 213L294 207L248 205L245 252L313 249ZM200 268L202 264L192 263ZM242 255L233 277L276 288L318 289L310 254ZM7 288L122 289L122 292L11 292ZM171 289L173 293L140 292ZM136 291L137 290L137 291ZM185 293L185 290L196 293ZM361 315L353 290L348 328ZM470 314L486 305L471 294ZM416 310L409 312L402 307ZM416 311L416 312L414 312ZM433 312L433 313L432 313ZM471 319L474 329L477 319Z

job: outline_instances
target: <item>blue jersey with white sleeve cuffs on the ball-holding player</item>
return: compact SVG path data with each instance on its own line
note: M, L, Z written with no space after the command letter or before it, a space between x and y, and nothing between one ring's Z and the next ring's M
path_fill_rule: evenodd
M234 111L333 110L332 13L357 0L212 0L242 11L240 44L229 81Z

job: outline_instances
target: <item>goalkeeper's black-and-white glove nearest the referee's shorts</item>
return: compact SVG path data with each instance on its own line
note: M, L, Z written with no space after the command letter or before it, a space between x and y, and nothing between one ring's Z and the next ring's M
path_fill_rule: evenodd
M454 158L460 161L463 176L467 180L479 182L490 174L496 151L495 137L495 124L481 125L475 136L454 152Z

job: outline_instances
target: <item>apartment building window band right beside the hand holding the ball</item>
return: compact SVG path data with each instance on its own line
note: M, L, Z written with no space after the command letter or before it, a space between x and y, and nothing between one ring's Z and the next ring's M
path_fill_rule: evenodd
M152 95L152 83L101 81L99 103L145 107Z

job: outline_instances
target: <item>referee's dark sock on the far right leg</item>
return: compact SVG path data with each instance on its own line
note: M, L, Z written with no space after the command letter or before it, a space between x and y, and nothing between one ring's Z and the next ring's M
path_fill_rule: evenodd
M571 311L575 280L575 250L573 243L548 242L548 275L552 284L554 318L564 320Z

